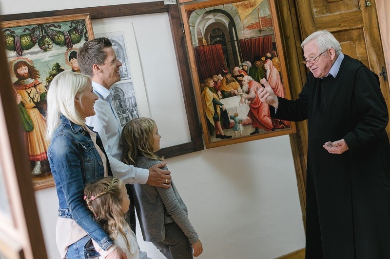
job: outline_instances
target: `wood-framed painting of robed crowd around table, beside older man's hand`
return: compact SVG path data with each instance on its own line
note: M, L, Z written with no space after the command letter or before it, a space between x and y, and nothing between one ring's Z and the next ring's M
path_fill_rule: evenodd
M180 1L182 2L182 1ZM265 78L290 98L274 0L208 0L181 5L207 148L295 133L257 96Z

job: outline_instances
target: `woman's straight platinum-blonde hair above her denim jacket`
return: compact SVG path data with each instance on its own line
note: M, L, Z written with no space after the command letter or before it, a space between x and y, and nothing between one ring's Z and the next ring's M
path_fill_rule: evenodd
M47 91L47 123L46 139L50 140L59 126L59 116L62 114L73 123L84 126L85 120L80 117L75 101L81 104L82 94L91 77L70 70L56 75Z

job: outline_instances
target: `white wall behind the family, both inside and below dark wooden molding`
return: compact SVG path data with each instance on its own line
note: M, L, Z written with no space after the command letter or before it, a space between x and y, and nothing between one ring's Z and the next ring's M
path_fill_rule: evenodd
M115 0L110 4L133 2L144 1ZM12 1L0 0L2 14L106 4L108 2L103 0L40 0L38 5L20 0L15 5ZM170 124L166 111L181 111L178 117L185 117L185 113L182 95L176 97L177 102L164 101L172 100L170 93L180 89L179 81L172 77L177 66L172 38L166 37L170 34L168 18L165 14L154 14L97 20L94 25L128 20L134 25L151 117L163 128L162 144L169 145L170 139L164 140L164 136L169 136L167 125ZM159 31L159 40L149 36L153 28ZM170 106L173 103L175 107ZM171 123L172 127L175 123ZM183 138L187 138L185 125L180 126L184 129ZM208 149L170 158L167 162L189 208L190 220L202 240L204 252L200 258L271 259L305 246L288 136ZM36 199L49 258L57 259L58 199L55 188L37 191ZM139 229L137 233L142 250L154 259L163 258L153 244L142 241Z

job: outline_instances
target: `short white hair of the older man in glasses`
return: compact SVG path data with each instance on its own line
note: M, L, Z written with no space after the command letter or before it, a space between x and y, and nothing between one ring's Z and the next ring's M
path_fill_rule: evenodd
M318 46L319 51L326 52L330 48L333 48L336 52L336 56L340 55L341 46L340 43L336 40L336 38L327 30L317 31L309 35L301 44L301 47L305 47L306 44L315 40L315 43Z

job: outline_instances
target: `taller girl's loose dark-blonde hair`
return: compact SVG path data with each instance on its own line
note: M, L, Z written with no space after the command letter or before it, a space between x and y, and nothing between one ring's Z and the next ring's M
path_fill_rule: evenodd
M133 119L123 127L120 136L123 145L123 161L136 165L138 157L144 156L154 160L164 160L153 153L153 129L156 122L150 118Z

